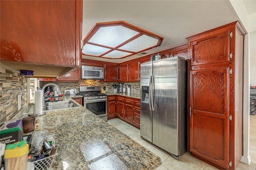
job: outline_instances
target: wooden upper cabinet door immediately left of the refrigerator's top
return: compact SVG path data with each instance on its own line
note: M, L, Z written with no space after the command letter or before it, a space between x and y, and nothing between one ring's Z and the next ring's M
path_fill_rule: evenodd
M128 82L140 81L140 61L128 63Z

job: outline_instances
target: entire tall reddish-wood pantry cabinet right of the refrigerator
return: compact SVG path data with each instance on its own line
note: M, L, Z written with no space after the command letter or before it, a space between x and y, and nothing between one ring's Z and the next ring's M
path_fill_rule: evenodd
M239 22L188 40L188 150L219 169L242 157L243 48Z

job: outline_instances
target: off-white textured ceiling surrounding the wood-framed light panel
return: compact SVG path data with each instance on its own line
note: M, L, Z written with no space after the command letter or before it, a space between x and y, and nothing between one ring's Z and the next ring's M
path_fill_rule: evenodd
M239 20L228 0L84 0L82 38L98 22L123 20L164 37L159 47L146 51L156 53L187 43L186 38L200 32ZM142 55L143 56L143 55ZM124 59L83 58L121 63Z

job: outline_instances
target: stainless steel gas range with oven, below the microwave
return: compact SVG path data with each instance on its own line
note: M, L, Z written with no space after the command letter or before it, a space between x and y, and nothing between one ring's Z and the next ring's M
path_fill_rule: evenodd
M100 93L100 86L80 85L80 95L84 96L84 107L103 119L108 120L107 114L107 95Z

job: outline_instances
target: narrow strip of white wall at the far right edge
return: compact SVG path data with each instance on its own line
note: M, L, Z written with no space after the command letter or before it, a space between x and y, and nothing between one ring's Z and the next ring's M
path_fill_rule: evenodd
M256 86L256 31L250 33L250 85Z

